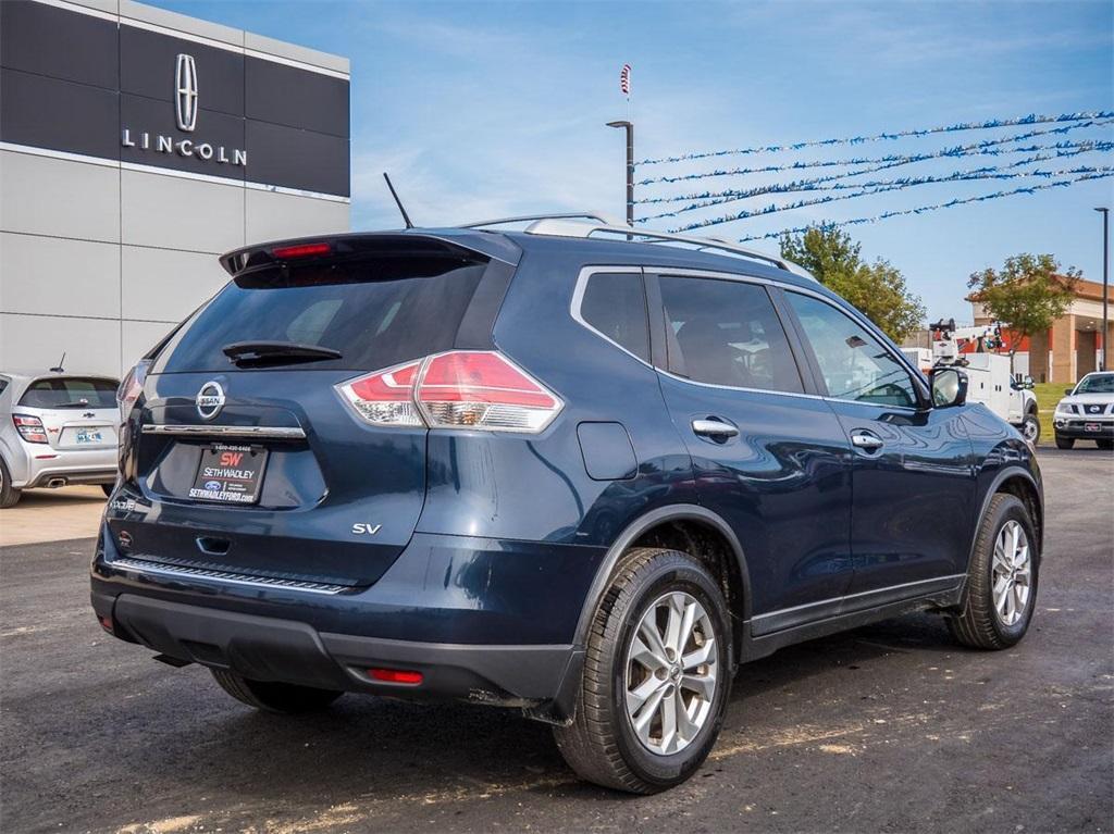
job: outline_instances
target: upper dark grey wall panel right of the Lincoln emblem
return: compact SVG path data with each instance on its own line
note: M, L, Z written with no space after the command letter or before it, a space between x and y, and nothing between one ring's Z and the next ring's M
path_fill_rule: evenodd
M244 70L247 118L348 138L348 81L260 58Z

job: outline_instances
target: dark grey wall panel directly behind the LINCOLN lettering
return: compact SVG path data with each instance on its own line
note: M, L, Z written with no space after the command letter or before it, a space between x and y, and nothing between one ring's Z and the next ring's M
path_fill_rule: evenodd
M178 130L174 122L174 106L166 101L155 101L143 96L120 96L120 124L128 128L128 139L135 147L121 147L120 160L155 165L160 168L189 170L214 177L243 179L244 166L235 165L235 151L244 147L244 120L223 112L202 110L197 115L197 129L193 133ZM143 147L143 133L148 134L149 147ZM123 136L123 133L121 133ZM173 140L169 153L159 150L158 138ZM186 141L183 154L180 143ZM207 147L206 147L207 146ZM223 148L223 150L222 150ZM207 153L208 159L201 154ZM222 163L221 156L228 161ZM251 158L248 156L248 158Z

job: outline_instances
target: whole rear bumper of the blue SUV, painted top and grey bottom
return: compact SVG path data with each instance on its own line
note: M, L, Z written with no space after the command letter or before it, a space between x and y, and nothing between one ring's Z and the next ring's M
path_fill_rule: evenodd
M121 639L252 679L565 720L583 663L576 624L603 553L418 533L370 587L300 587L152 569L157 555L121 553L102 528L92 606ZM377 681L372 668L420 671L422 681Z

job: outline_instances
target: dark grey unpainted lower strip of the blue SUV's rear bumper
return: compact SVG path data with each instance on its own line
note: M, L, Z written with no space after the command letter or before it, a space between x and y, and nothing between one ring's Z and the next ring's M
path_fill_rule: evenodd
M98 617L111 619L118 637L180 660L253 680L395 697L536 708L563 700L566 681L578 679L583 659L573 646L466 646L338 635L296 620L135 593L94 591L92 607ZM369 673L375 668L418 671L422 680L378 681Z

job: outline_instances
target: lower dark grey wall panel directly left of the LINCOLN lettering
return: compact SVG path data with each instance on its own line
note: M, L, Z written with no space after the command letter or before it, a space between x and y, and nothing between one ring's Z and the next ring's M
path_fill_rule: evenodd
M119 94L0 70L0 141L118 159Z

